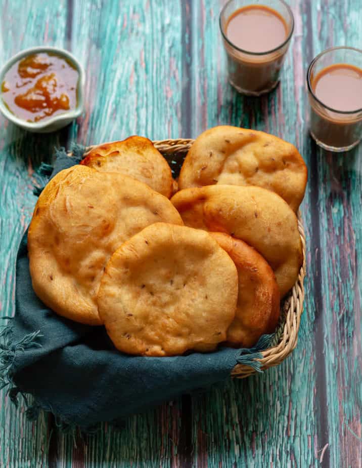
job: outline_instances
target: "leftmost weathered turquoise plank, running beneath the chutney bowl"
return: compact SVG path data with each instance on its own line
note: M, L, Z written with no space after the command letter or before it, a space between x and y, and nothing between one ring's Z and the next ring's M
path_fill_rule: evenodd
M66 3L3 2L0 17L0 57L4 63L21 49L39 44L64 46ZM30 136L0 118L0 316L14 307L15 258L21 236L35 204L33 167L49 158L63 133ZM47 466L48 418L28 422L24 407L18 410L5 391L0 393L0 466Z

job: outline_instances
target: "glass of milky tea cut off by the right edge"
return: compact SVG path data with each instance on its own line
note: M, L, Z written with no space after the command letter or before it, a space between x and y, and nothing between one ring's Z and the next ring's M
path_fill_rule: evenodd
M330 151L347 151L362 138L362 50L334 47L307 72L310 134Z

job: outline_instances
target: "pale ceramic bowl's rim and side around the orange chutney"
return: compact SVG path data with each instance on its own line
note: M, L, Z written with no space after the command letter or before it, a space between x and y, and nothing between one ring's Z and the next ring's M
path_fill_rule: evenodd
M32 47L30 49L25 49L19 52L18 54L14 55L10 60L6 62L3 68L0 71L0 83L3 83L4 77L6 72L9 68L14 65L15 62L21 60L27 55L30 54L38 54L41 52L52 52L60 57L65 57L68 59L72 65L74 65L75 69L79 74L78 84L77 84L77 106L75 109L66 110L65 112L55 115L50 119L39 121L39 122L27 122L23 119L19 119L16 115L14 115L5 105L3 99L0 96L0 111L2 114L9 119L14 124L18 125L19 127L23 128L24 130L28 130L29 132L34 133L49 133L55 132L66 125L70 124L72 120L79 117L79 115L83 111L83 87L84 87L84 70L78 60L70 54L68 51L59 49L58 47Z

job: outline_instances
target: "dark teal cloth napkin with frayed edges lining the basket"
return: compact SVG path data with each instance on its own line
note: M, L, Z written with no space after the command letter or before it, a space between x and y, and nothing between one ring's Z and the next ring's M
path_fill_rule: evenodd
M60 154L52 175L80 157L70 160ZM29 274L27 233L17 257L15 300L15 318L0 344L3 385L10 384L14 400L19 391L31 394L39 407L83 428L208 387L230 378L237 362L246 359L255 365L259 357L243 357L241 350L231 348L173 358L118 352L103 327L63 319L37 298Z

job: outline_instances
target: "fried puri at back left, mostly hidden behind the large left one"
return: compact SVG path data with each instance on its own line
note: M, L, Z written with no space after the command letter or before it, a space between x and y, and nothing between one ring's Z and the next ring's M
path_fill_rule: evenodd
M171 169L148 138L131 136L96 146L80 164L101 172L120 172L144 182L167 198L172 195Z

